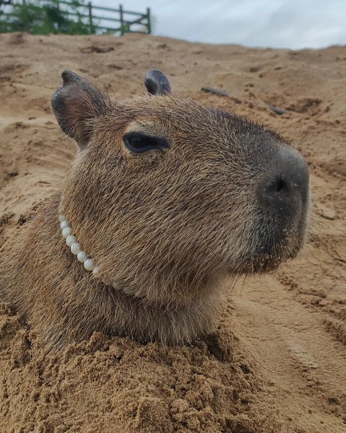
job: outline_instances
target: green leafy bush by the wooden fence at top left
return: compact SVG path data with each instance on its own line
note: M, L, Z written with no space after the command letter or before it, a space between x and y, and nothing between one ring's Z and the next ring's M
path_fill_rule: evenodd
M81 3L72 1L62 9L59 0L32 0L24 4L13 4L10 13L0 15L0 33L28 32L33 35L67 33L89 35L95 33L95 26L88 17L79 12ZM71 12L73 16L67 13Z

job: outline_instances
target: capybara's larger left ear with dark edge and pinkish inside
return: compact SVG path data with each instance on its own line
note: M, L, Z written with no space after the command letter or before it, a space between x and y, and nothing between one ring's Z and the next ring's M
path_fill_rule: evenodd
M63 86L53 94L52 108L63 132L75 139L83 149L87 146L91 133L87 121L106 114L107 98L68 69L61 77Z

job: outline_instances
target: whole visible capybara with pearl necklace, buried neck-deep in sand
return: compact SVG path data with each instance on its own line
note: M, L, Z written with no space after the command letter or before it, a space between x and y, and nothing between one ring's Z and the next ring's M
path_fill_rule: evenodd
M223 281L296 256L309 174L280 135L175 96L111 100L71 71L52 97L78 143L53 195L2 248L0 299L47 349L93 331L182 344L213 329Z

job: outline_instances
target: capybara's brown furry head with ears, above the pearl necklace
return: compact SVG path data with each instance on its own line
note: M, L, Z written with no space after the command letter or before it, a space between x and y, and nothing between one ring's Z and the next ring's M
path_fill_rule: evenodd
M172 94L160 71L147 74L149 94L116 101L62 78L52 106L78 152L60 213L102 281L178 304L296 256L309 174L280 135Z

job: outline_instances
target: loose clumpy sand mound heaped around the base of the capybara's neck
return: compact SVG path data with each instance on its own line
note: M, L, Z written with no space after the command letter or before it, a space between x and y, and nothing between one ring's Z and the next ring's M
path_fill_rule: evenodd
M47 356L10 314L5 308L0 322L1 422L9 431L275 432L274 407L259 397L264 385L234 357L224 329L170 348L95 333Z

